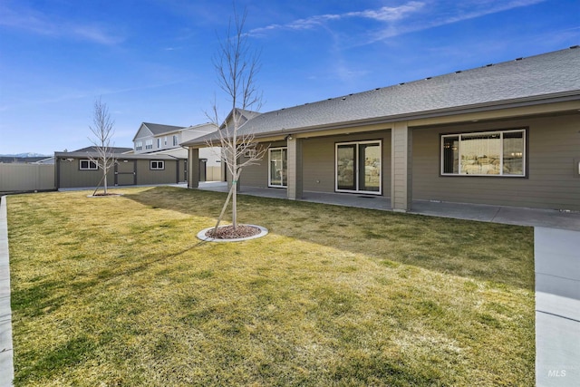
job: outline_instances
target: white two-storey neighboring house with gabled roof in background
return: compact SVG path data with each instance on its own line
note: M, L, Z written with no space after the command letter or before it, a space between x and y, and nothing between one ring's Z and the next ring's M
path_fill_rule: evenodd
M181 160L188 159L188 150L180 144L193 140L208 133L217 131L212 123L204 123L189 127L161 125L158 123L142 122L133 138L133 151L137 154L162 154ZM199 175L202 181L223 180L223 166L217 148L206 148L199 153Z

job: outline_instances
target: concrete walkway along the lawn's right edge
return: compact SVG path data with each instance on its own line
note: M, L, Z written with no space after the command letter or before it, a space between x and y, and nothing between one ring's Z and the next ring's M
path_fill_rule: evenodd
M536 385L580 385L580 232L535 227Z

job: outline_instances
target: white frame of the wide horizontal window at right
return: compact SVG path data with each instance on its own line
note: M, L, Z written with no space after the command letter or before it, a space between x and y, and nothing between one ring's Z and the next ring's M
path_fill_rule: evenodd
M516 174L504 174L504 134L505 133L522 133L522 173L520 175ZM478 135L499 135L499 173L498 174L487 174L487 173L462 173L461 172L461 140L463 137ZM461 132L455 134L442 134L440 137L440 174L441 176L485 176L487 178L526 178L527 177L527 130L526 128L518 129L508 129L508 130L498 130L498 131L472 131L472 132ZM458 172L445 172L445 139L447 138L458 138L458 153L459 153L459 165Z

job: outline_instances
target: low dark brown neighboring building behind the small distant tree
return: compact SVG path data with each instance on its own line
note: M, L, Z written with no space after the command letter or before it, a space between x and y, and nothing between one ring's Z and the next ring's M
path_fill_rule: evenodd
M127 153L127 152L131 153ZM114 149L116 163L107 174L112 186L175 184L188 176L185 159L163 154L133 154L131 148ZM56 189L102 186L102 170L91 161L98 158L92 148L54 153Z

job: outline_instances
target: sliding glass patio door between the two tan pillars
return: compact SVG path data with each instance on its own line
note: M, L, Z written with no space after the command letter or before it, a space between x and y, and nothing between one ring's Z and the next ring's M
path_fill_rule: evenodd
M336 191L381 194L382 142L336 144Z

